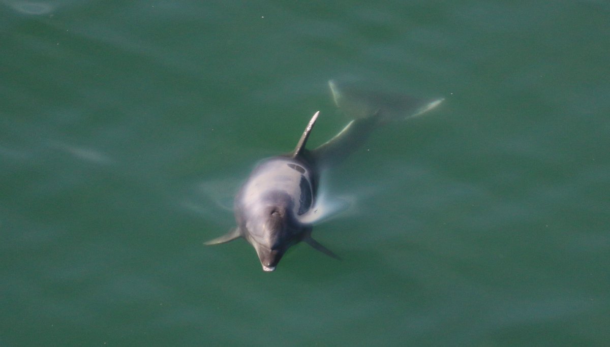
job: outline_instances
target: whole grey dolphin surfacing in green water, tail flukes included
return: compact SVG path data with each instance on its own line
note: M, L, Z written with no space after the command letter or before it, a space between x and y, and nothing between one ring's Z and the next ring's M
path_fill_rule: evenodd
M317 201L320 170L345 159L376 126L420 115L443 101L366 93L341 88L333 80L328 84L337 107L353 120L331 140L309 150L307 139L320 115L315 112L292 152L262 160L246 179L234 201L237 226L206 245L245 238L264 271L274 271L287 249L300 241L339 259L311 237L313 224L324 214L318 213L323 210Z

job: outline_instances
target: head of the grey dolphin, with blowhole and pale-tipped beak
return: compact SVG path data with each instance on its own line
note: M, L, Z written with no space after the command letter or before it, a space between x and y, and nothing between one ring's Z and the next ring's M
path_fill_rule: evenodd
M248 241L256 249L264 271L273 271L303 229L296 221L289 195L274 193L247 223Z

